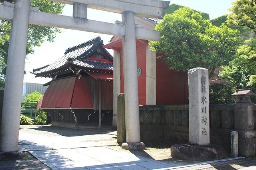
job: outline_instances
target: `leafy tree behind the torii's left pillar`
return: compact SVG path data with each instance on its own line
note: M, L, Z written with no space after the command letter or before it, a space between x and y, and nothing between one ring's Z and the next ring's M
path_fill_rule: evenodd
M7 0L13 2L14 0ZM4 0L0 0L2 4ZM61 14L64 4L51 2L48 0L31 0L31 6L39 7L41 12ZM4 88L4 80L6 73L6 61L8 55L8 46L10 40L11 21L0 20L0 89ZM28 26L28 43L26 54L33 53L34 46L41 46L47 40L53 42L57 33L61 30L47 26L36 26L29 24Z

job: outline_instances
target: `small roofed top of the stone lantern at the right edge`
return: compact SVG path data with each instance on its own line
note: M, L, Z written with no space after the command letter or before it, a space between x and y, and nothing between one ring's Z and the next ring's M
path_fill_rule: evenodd
M238 89L232 95L236 96L236 103L250 103L250 96L256 96L252 89Z

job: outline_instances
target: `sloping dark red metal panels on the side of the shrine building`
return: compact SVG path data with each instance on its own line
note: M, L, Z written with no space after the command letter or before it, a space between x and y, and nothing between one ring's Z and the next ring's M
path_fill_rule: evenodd
M75 76L52 80L37 106L41 109L93 109L93 102L85 77Z

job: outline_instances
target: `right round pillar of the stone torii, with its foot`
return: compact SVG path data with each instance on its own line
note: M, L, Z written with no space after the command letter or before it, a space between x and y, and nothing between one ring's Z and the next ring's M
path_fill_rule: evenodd
M134 13L130 11L123 12L122 21L125 25L125 36L123 36L123 73L125 82L126 127L126 143L122 144L122 148L144 149L145 144L140 142L139 95Z

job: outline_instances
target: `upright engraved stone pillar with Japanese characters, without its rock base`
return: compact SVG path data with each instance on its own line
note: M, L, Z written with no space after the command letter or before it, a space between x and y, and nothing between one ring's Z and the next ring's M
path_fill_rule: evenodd
M208 69L188 71L189 143L210 144Z

